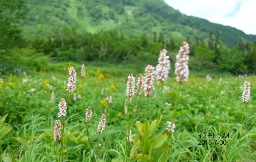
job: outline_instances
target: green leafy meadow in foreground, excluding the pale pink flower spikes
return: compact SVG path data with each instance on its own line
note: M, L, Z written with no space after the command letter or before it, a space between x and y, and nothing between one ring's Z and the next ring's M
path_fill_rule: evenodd
M141 161L142 154L145 161L151 162L235 161L243 106L245 111L239 161L250 162L256 159L255 76L246 78L228 76L221 80L217 77L207 80L205 77L189 76L188 81L180 87L179 97L177 97L179 84L174 77L169 77L163 84L157 81L154 83L155 90L148 100L142 92L136 97L135 103L134 97L129 104L129 98L126 96L126 77L129 73L112 76L111 71L102 73L100 69L90 70L85 66L85 78L81 78L81 67L75 68L76 89L70 93L65 116L65 131L63 135L61 134L63 161ZM69 96L69 91L66 91L68 71L69 67L63 70L63 73L9 75L0 80L2 161L56 160L57 142L54 140L54 122L59 119L60 99L67 100ZM133 74L135 78L139 76ZM247 104L243 104L241 100L245 80L251 84L251 96ZM51 101L52 91L55 95ZM161 117L156 127L156 122L153 121L158 119L160 104ZM175 104L177 104L174 120L176 128L173 132L169 132L166 129L167 121L172 119ZM91 106L92 116L87 129L85 113L88 106ZM132 114L130 115L132 142L126 151L129 126L127 107ZM132 111L134 108L135 111ZM147 128L145 128L146 112ZM101 115L105 113L106 126L98 136L98 123ZM144 134L145 130L148 131L147 137ZM213 138L212 135L204 137L206 132L214 133L215 137ZM226 137L227 134L229 137ZM201 140L200 145L198 140ZM202 144L202 140L208 142L211 140L211 144ZM144 142L145 148L143 148Z

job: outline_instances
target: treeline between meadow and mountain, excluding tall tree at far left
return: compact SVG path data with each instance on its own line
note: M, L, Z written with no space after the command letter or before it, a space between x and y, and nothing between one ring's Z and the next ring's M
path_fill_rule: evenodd
M101 31L95 34L78 33L75 29L63 29L51 38L35 37L24 40L19 48L24 55L33 53L47 56L52 62L83 62L103 61L110 63L138 63L148 62L155 64L161 49L166 48L174 64L175 55L178 53L182 40L165 40L162 33L152 33L141 36L125 37L116 30ZM189 68L197 71L216 69L234 74L256 72L255 42L243 44L240 40L237 46L230 49L223 46L212 34L205 40L187 42L190 45ZM11 49L9 49L11 50ZM9 51L8 50L8 51ZM15 49L16 52L19 50ZM6 52L14 55L15 52ZM10 57L10 56L9 56Z

